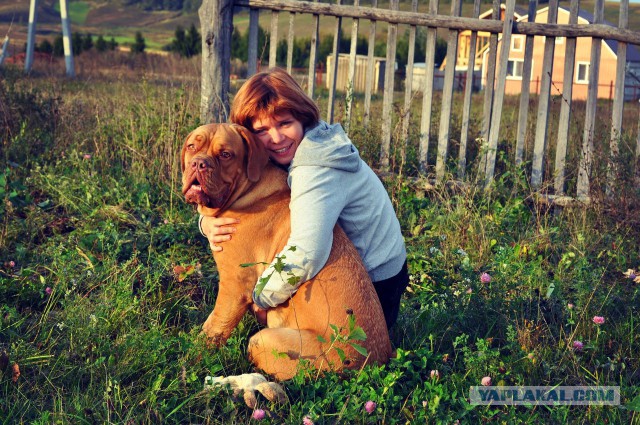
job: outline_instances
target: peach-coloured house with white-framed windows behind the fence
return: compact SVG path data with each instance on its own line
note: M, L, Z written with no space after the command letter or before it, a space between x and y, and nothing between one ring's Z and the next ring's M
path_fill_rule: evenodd
M549 8L545 7L537 11L535 22L546 23L548 21ZM527 21L528 16L522 16L520 21ZM578 24L588 25L593 22L593 15L581 10L578 13ZM569 23L569 10L558 8L559 24ZM605 24L611 25L605 22ZM505 94L518 94L522 87L522 71L524 66L524 46L526 36L513 34L509 46L509 61L507 65L507 80L505 82ZM539 93L542 79L542 62L544 57L545 37L534 37L533 62L531 68L531 93ZM502 49L502 39L498 40L498 57ZM566 38L556 37L553 60L553 73L551 95L562 94L564 84L564 63L566 51ZM487 58L489 47L482 52L482 81L486 82ZM600 72L598 76L598 98L613 98L616 84L616 62L618 58L618 42L603 40L600 58ZM632 100L640 97L640 52L631 44L627 45L627 66L625 76L625 99ZM573 99L586 99L589 88L589 72L591 71L591 38L578 38L576 42L575 69L573 81Z

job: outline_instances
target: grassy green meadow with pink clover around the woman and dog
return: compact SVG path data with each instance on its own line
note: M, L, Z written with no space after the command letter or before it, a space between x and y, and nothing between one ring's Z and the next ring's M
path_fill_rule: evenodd
M246 316L219 349L199 335L218 280L178 162L200 124L197 61L169 57L161 72L160 60L106 72L82 55L73 80L61 64L0 70L0 422L640 422L637 186L621 178L614 200L553 208L503 157L487 191L423 193L409 179L413 145L384 180L411 274L396 356L341 375L301 367L283 383L289 403L258 398L261 420L228 389L204 390L206 376L254 371L245 353L259 325ZM354 126L374 167L377 132ZM619 386L621 404L471 405L487 379Z

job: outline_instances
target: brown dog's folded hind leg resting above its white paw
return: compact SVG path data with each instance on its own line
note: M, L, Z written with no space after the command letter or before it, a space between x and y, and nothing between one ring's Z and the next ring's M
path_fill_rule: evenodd
M289 328L263 329L249 340L249 359L279 381L292 378L300 360L316 369L341 369L337 351L318 341L317 332Z

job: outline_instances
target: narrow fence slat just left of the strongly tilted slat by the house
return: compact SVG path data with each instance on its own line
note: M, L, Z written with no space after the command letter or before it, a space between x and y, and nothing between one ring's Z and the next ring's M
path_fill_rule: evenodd
M491 19L495 21L500 20L500 0L493 0L493 8L491 13ZM486 151L489 143L489 129L491 128L491 114L493 113L493 94L495 91L496 81L496 58L498 57L498 34L491 34L489 36L489 52L487 54L487 62L484 84L484 99L483 99L483 114L482 114L482 132L480 138L482 139L482 155L478 164L478 176L482 173L486 175L487 169L487 155Z

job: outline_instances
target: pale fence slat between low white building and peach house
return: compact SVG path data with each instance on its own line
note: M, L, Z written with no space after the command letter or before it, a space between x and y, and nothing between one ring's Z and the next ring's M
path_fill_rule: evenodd
M462 0L451 1L451 16L460 16ZM440 109L440 126L438 127L438 151L436 152L436 180L444 179L447 163L447 148L449 146L449 130L451 128L451 110L453 108L453 79L456 72L456 57L458 56L458 30L449 30L447 41L447 66L444 70L444 85L442 87L442 107Z

